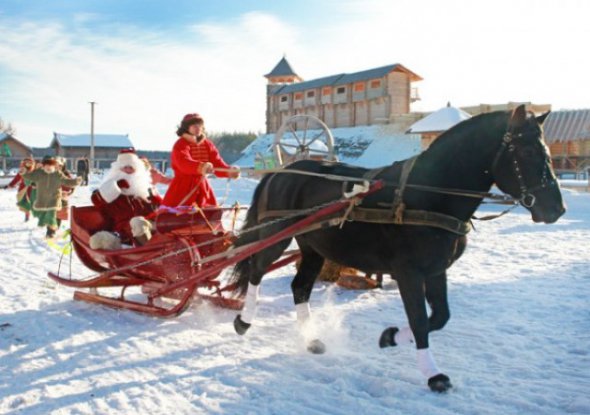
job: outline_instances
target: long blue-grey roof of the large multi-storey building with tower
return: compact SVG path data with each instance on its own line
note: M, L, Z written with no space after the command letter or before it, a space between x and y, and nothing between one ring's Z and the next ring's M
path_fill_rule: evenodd
M285 85L272 92L272 95L289 94L296 91L305 91L307 89L321 88L324 86L338 86L346 85L353 82L368 81L370 79L377 79L386 76L392 71L400 71L407 73L411 81L420 81L422 78L410 71L403 65L395 63L393 65L382 66L380 68L368 69L366 71L353 72L350 74L341 73L337 75L330 75L323 78L311 79L309 81L297 82L294 84Z

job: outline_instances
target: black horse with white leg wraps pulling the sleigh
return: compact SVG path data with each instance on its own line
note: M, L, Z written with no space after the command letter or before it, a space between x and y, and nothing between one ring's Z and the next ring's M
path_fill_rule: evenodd
M418 367L428 385L434 391L445 391L451 383L429 351L428 333L441 329L450 317L446 270L463 253L470 220L484 196L495 183L527 208L535 222L553 223L565 212L543 142L546 116L535 117L524 106L479 115L451 128L417 158L383 169L309 160L293 163L287 170L308 174L265 176L256 188L236 245L262 240L298 219L276 221L276 216L339 199L351 190L354 181L343 183L333 180L334 176L383 180L385 187L365 197L342 226L295 237L302 254L291 283L297 319L301 323L310 319L308 301L325 258L365 272L391 274L410 325L387 328L379 345L415 342ZM269 226L257 226L266 221ZM246 332L254 318L265 270L290 242L284 240L236 265L234 282L242 295L246 293L244 308L234 321L239 334ZM324 346L315 339L308 349L322 353Z

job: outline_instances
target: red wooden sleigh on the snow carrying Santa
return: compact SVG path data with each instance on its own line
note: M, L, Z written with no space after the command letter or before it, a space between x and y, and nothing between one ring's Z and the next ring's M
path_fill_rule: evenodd
M218 280L224 269L219 263L227 259L233 239L233 232L222 224L222 216L237 215L238 208L159 212L154 235L146 245L117 250L90 247L90 237L106 228L97 209L72 207L71 213L74 251L97 274L85 279L60 276L59 272L48 275L60 284L90 289L75 291L74 299L162 317L182 313L195 297L222 307L241 308L242 301L228 295L232 287ZM273 269L297 256L291 254L278 261ZM143 298L136 299L136 292L128 294L128 288L134 286L141 287L139 297ZM116 296L98 293L99 289L113 287L119 288Z

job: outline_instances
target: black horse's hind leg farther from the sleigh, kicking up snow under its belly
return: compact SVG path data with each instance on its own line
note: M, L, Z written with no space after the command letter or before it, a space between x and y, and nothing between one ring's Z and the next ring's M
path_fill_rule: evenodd
M309 297L313 284L322 270L322 265L324 265L324 258L301 240L299 241L299 247L301 250L301 263L295 278L291 282L291 291L293 292L299 329L305 338L306 331L310 329L311 324ZM307 350L311 353L321 354L326 351L326 347L319 339L313 339L308 342Z

